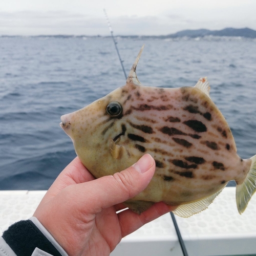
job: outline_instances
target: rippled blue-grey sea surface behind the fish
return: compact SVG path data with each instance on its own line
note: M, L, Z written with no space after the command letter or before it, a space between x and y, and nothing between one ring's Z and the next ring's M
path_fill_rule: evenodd
M256 154L256 41L243 38L117 38L128 74L145 86L194 86L230 125L238 154ZM0 189L48 189L76 156L59 126L73 112L125 84L111 38L0 37Z

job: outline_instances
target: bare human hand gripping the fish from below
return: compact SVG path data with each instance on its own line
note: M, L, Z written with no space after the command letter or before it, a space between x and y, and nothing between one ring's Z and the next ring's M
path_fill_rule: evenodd
M34 217L69 255L109 255L127 234L175 206L155 203L141 215L122 202L139 194L155 172L146 154L136 164L95 179L76 157L57 177L37 207Z

